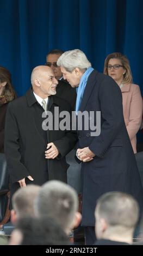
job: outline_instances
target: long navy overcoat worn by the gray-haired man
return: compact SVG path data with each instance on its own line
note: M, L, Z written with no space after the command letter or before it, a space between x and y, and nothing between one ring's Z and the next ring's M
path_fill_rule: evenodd
M132 194L142 210L143 191L132 145L123 119L122 94L115 81L92 71L86 84L79 111L87 111L96 126L96 111L101 113L101 132L91 136L88 130L78 131L79 148L89 147L94 160L82 163L82 225L94 226L97 199L109 191ZM94 113L91 115L91 112ZM94 120L93 120L94 118ZM83 123L84 124L84 123ZM95 129L96 130L96 129Z

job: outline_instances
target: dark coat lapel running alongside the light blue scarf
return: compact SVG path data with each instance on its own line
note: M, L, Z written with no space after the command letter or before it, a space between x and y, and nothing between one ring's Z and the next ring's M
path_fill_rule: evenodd
M84 111L86 107L86 103L88 102L88 99L92 93L92 90L94 89L97 74L98 74L98 71L93 70L88 78L88 82L84 90L83 99L82 99L79 111Z

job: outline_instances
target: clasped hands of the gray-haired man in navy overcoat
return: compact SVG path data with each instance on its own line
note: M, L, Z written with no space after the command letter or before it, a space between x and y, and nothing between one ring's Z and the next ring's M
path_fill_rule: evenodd
M95 154L89 149L89 147L83 149L77 149L77 156L80 161L89 162L94 159Z

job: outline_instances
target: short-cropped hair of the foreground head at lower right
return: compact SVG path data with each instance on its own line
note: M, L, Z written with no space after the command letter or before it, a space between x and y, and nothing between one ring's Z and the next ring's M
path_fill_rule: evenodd
M139 219L139 205L129 194L108 192L98 199L96 210L98 219L104 218L109 226L134 228Z

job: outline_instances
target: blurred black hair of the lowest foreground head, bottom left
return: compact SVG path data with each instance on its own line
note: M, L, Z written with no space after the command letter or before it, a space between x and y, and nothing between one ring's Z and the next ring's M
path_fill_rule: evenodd
M52 218L22 218L16 224L22 233L20 245L69 245L69 238Z

